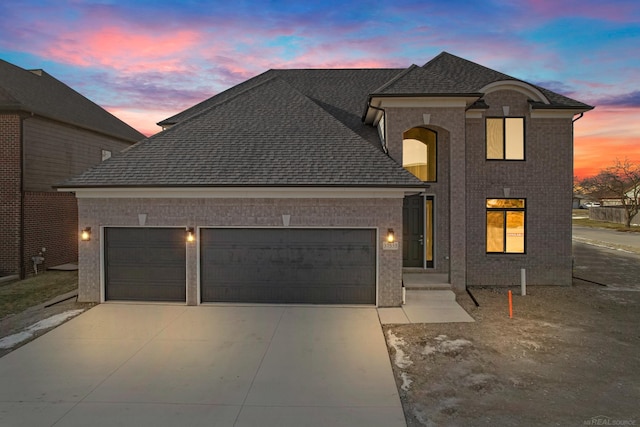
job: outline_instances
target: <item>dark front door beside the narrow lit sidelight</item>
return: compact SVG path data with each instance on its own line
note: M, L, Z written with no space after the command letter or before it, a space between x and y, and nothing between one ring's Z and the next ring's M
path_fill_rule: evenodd
M424 267L424 197L404 198L402 204L402 265Z

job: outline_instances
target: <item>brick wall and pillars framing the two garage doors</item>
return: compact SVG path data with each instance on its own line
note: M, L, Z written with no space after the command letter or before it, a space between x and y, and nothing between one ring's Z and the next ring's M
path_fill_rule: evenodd
M80 242L79 300L101 301L101 226L147 227L290 227L377 228L378 306L402 301L402 251L382 250L388 228L402 229L402 198L372 199L78 199L80 228L91 227L92 238ZM187 304L197 300L198 251L187 247Z

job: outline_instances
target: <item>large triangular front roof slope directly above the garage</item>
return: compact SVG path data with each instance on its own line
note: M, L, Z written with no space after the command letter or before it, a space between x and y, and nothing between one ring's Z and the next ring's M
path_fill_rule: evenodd
M64 186L424 185L273 77L139 142Z

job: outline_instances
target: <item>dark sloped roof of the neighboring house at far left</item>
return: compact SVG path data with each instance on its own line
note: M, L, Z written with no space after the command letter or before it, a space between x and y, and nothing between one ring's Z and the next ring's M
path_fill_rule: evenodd
M0 60L0 111L39 116L136 142L144 135L43 70Z

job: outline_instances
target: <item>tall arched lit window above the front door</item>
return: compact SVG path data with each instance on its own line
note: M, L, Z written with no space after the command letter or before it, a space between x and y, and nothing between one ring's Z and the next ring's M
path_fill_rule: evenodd
M412 128L402 134L402 166L422 181L436 180L437 134Z

